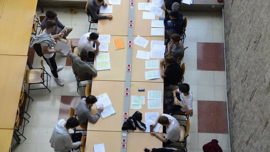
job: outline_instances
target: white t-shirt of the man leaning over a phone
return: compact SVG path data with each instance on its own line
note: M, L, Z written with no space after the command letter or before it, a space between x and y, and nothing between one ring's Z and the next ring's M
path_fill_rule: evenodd
M171 115L162 114L161 116L165 116L172 121L172 124L166 127L165 138L171 142L176 142L180 137L180 125L178 121Z

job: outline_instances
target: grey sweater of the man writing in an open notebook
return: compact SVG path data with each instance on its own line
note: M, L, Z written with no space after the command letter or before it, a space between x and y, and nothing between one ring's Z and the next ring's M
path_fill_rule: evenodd
M81 99L78 106L76 107L77 116L80 123L87 123L88 119L92 123L96 123L100 117L100 112L98 111L98 113L93 116L90 112L89 106L85 105L84 100L86 100L86 98Z

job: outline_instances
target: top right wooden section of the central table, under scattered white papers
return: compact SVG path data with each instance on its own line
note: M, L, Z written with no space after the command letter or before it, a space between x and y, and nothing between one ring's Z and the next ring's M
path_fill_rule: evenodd
M146 0L136 0L135 1L135 13L134 13L134 30L133 36L151 36L151 20L142 19L143 12L146 10L138 10L138 3L145 3ZM150 0L152 2L152 0ZM155 20L159 20L159 18L165 17L165 11L163 11L161 16L155 15ZM154 36L154 37L164 37L164 36Z

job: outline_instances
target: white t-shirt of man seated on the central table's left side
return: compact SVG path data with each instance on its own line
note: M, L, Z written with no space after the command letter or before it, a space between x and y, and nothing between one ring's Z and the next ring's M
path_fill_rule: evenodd
M79 40L79 43L78 43L78 54L80 55L81 52L84 50L88 52L93 52L95 51L95 48L93 47L93 41L89 42L87 40L87 37L89 37L91 32L88 32L86 34L84 34L80 40Z

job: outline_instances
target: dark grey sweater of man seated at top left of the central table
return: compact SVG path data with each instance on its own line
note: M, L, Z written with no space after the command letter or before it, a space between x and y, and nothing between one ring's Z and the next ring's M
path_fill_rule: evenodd
M107 15L98 15L99 9L101 6L103 6L103 4L105 3L105 1L102 2L102 4L100 6L97 6L96 0L90 0L87 6L87 11L89 13L89 15L91 16L91 19L94 20L98 20L98 19L107 19Z

